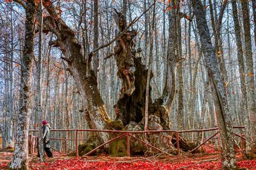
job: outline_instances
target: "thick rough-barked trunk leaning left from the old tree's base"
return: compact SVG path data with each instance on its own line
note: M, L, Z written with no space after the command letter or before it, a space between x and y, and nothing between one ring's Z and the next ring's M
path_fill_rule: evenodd
M101 99L100 91L97 87L97 80L93 70L88 71L87 64L83 62L83 56L80 52L81 46L75 40L74 32L64 23L64 21L56 13L53 5L49 0L45 3L45 8L49 12L49 16L45 18L44 32L53 32L58 39L52 41L53 46L59 47L65 57L62 57L69 68L70 74L73 76L80 95L83 98L83 106L85 106L87 120L91 129L107 129L110 119L106 111L105 104ZM101 142L107 142L109 135L100 132Z

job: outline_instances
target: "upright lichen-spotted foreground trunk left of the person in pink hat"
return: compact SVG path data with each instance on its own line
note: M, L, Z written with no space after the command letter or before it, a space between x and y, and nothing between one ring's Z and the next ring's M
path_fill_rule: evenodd
M10 169L28 169L28 124L30 108L30 83L31 69L34 49L34 22L36 16L36 5L34 0L27 0L25 20L25 45L21 61L21 82L20 82L20 106L17 117L16 141L14 156L12 157Z

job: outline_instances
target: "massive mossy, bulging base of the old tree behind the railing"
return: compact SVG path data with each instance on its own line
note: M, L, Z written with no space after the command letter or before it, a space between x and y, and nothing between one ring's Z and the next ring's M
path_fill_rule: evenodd
M124 126L122 121L116 120L109 124L109 129L111 130L127 130L127 131L143 131L144 127L144 119L139 123L131 121L129 124ZM161 121L158 116L151 114L148 117L148 130L163 130L161 126ZM121 134L110 134L111 138L117 137ZM156 148L168 153L169 155L177 155L177 142L176 142L176 134L175 133L148 133L145 134L132 134L134 137L147 142L150 145L153 145ZM79 145L79 156L83 156L89 151L96 148L100 143L96 139L96 135L92 135L87 143ZM179 146L182 152L190 151L196 147L195 143L187 142L187 140L181 136L179 136ZM106 153L111 156L127 156L126 149L126 137L121 138L119 140L115 140L110 143L108 147L101 148L97 150L92 155L98 155L100 153ZM130 155L146 155L152 156L160 153L160 151L155 150L154 148L148 147L143 144L139 140L136 140L133 137L130 137ZM74 154L70 155L74 156Z

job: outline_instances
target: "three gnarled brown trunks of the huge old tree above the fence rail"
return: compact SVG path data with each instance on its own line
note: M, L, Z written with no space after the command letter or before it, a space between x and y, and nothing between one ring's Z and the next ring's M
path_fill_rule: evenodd
M133 38L137 35L137 31L129 30L130 25L127 26L124 14L116 11L115 21L119 29L118 33L121 36L117 37L113 53L106 57L108 59L114 56L116 59L117 76L122 82L119 100L115 105L116 121L111 122L101 99L95 74L93 70L88 70L90 69L92 59L90 55L93 55L93 53L89 54L87 64L85 64L80 52L81 46L77 43L74 32L57 14L53 4L49 0L45 0L45 3L47 4L45 7L49 12L49 16L45 18L43 31L45 33L53 32L57 36L57 40L52 41L51 45L60 48L65 56L62 59L67 62L69 66L67 69L74 78L79 93L83 98L83 105L86 108L85 112L90 128L123 129L127 125L127 129L129 129L131 123L139 123L135 126L144 124L143 117L145 116L145 93L148 70L142 63L141 58L137 56L137 53L141 50L135 49ZM163 96L156 100L155 103L152 103L149 95L148 113L150 115L149 119L152 122L149 130L170 128L169 113L171 112L176 95L176 65L179 53L177 50L177 15L175 11L169 14L169 23L171 25L169 35L171 36L169 36L168 43L168 76L166 78ZM151 73L150 77L152 77ZM158 121L154 122L156 119ZM104 132L101 132L98 137L100 138L100 143L105 143L109 140L109 135ZM162 141L159 140L158 142L161 143Z

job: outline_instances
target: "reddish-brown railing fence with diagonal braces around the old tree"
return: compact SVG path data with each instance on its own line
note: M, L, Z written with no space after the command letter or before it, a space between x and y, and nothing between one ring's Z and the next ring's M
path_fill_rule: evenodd
M244 126L233 126L234 129L243 129ZM121 133L121 135L112 138L111 140L108 140L107 142L101 144L100 146L96 147L95 149L93 149L92 151L88 152L87 154L85 154L85 156L88 156L90 154L92 154L93 152L95 152L96 150L98 150L101 147L104 147L105 145L107 145L108 143L113 142L114 140L118 140L120 138L126 137L126 143L127 143L127 156L130 156L130 138L132 137L135 140L138 140L139 142L143 143L144 145L147 145L148 147L154 148L155 150L160 151L161 153L165 153L167 155L169 155L169 153L167 153L166 151L160 150L157 147L154 147L153 145L150 145L150 143L144 142L143 140L140 140L139 138L135 137L132 134L155 134L155 133L161 133L161 132L166 132L166 133L175 133L176 135L176 144L177 144L177 155L181 154L181 149L179 147L179 134L181 133L189 133L189 132L208 132L208 131L213 131L213 130L218 130L218 127L215 128L211 128L211 129L195 129L195 130L147 130L147 131L124 131L124 130L98 130L98 129L53 129L51 130L51 132L75 132L75 139L70 138L51 138L52 140L64 140L65 141L65 153L67 155L67 140L71 140L74 141L75 140L75 156L78 157L79 156L79 141L80 140L85 140L85 139L79 139L79 132L106 132L106 133ZM38 132L38 130L29 130L29 132ZM189 151L190 153L195 151L197 148L201 147L203 144L205 144L206 142L208 142L208 140L212 139L213 137L215 137L219 132L216 132L214 135L211 135L211 137L207 138L206 140L203 140L202 143L200 143L200 145L198 145L197 147L194 148L194 150ZM243 135L239 135L239 134L235 134L237 137L241 138L241 143L244 143L245 138L243 137ZM244 146L243 146L244 147ZM54 148L53 148L54 149ZM56 150L56 149L54 149ZM74 152L74 151L72 151Z

